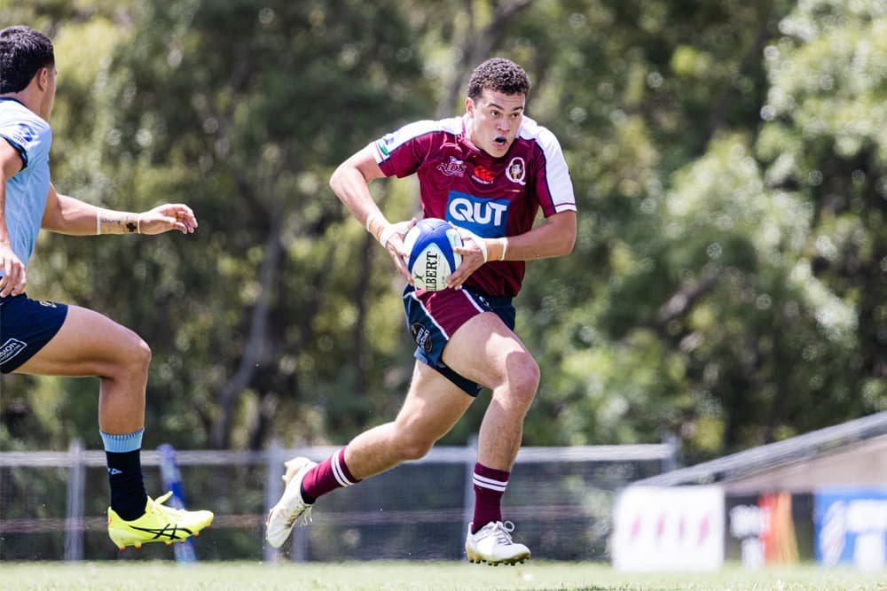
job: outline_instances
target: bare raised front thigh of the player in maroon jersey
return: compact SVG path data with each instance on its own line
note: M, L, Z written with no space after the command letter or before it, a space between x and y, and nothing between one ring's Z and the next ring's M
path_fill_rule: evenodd
M492 312L476 315L456 330L443 349L443 362L488 388L504 383L510 372L537 370L521 339Z

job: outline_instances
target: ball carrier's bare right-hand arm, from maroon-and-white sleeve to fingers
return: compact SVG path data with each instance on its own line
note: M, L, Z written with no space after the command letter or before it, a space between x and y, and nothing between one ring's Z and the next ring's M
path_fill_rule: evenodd
M465 245L454 249L462 255L462 264L447 279L450 287L459 287L486 261L534 261L565 256L576 243L576 212L551 214L546 222L517 236L482 238L470 236Z

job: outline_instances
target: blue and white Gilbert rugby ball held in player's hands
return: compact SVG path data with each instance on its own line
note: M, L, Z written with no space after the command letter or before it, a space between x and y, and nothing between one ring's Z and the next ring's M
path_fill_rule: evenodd
M453 248L462 245L459 230L438 218L417 222L404 237L410 253L404 257L406 268L417 289L438 292L446 289L446 280L462 263L462 255Z

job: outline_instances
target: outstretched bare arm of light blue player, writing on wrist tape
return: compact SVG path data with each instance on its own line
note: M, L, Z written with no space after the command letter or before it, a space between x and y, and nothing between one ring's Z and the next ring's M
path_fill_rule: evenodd
M187 234L197 228L197 218L182 204L166 204L141 214L105 209L62 195L50 184L41 225L70 236L161 234L170 229Z

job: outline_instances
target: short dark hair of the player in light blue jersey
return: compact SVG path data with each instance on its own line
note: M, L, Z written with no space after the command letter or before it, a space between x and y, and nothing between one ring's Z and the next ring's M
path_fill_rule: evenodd
M26 89L40 68L54 64L52 42L40 31L23 25L0 30L0 94Z

